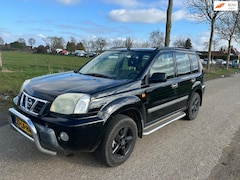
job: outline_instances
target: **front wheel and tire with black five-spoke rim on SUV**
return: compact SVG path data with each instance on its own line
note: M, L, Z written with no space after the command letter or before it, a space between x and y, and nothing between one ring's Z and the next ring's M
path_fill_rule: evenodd
M108 124L103 141L96 151L97 159L115 167L131 155L137 139L136 123L125 115L117 115Z

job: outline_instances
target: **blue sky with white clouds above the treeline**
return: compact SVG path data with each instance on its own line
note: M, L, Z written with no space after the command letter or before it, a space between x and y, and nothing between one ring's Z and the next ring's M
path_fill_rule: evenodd
M66 42L71 37L77 42L126 37L145 42L153 31L165 33L167 5L168 0L2 0L0 37L4 43L24 38L27 44L34 38L35 47L53 36ZM205 50L209 32L209 24L189 18L185 0L173 0L171 45L190 38L194 49Z

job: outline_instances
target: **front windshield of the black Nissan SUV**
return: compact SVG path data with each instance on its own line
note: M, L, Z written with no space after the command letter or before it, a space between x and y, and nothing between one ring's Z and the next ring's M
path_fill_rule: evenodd
M111 79L134 79L141 73L152 53L105 51L84 65L79 73Z

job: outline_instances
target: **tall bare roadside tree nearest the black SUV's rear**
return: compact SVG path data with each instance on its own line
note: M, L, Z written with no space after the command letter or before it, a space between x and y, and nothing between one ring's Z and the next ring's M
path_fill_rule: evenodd
M207 70L210 70L210 60L212 56L212 42L214 35L215 22L220 16L220 11L214 11L214 0L189 0L188 6L191 8L191 14L200 22L207 22L210 24L210 37L208 46L208 62Z

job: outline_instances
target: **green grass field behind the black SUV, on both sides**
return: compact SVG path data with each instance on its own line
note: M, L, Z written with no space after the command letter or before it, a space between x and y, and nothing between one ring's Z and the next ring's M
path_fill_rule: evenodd
M6 108L17 95L24 80L40 75L74 70L85 64L89 58L49 54L32 54L17 51L3 51L0 67L0 109ZM238 69L212 68L205 72L205 80L227 76Z

